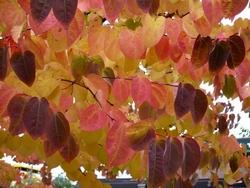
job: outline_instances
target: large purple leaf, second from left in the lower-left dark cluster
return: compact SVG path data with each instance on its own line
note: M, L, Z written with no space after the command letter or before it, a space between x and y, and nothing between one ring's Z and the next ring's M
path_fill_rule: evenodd
M51 113L51 114L49 114ZM25 106L23 122L27 132L33 139L41 137L49 126L52 112L47 99L32 97Z

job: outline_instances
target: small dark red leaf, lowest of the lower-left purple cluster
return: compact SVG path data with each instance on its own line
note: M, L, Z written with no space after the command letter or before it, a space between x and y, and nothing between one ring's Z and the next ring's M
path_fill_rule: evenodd
M60 150L60 154L67 161L72 161L79 153L79 146L72 135L69 136L68 141Z

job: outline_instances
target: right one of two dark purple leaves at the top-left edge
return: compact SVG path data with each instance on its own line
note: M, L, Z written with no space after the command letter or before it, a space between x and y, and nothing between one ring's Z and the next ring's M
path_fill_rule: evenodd
M54 0L53 13L64 25L69 25L75 17L78 0Z

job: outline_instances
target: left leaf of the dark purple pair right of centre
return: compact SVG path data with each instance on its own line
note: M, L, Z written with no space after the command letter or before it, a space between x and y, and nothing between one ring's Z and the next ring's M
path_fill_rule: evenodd
M179 84L177 95L174 101L175 114L181 118L189 112L193 105L195 88L191 84Z

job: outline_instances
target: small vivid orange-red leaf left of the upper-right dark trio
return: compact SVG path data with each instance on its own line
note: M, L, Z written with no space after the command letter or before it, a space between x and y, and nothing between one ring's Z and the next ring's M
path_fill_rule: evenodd
M161 40L155 45L155 52L160 60L164 60L169 57L169 38L168 36L162 36Z

